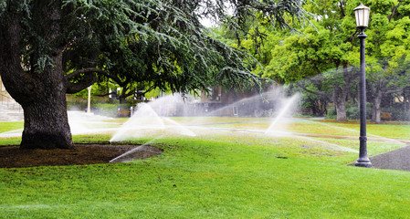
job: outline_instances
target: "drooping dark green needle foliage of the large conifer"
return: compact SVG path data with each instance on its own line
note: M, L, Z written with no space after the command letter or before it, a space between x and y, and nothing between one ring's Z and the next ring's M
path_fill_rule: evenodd
M62 65L70 93L94 83L95 73L121 86L149 82L180 92L212 85L260 88L260 78L251 72L257 61L213 38L200 20L213 18L245 31L247 19L258 15L268 25L291 28L292 18L306 20L303 4L302 0L0 0L0 27L7 28L7 18L17 15L18 49L26 72L41 74L45 68ZM60 31L53 32L48 21L58 23ZM56 53L62 53L63 63L50 58Z

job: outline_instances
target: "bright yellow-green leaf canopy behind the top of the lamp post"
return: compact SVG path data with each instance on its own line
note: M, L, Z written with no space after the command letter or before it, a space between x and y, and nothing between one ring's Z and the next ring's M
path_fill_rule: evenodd
M341 65L359 66L358 38L355 35L355 22L352 9L359 2L349 4L337 1L321 1L305 7L316 14L311 26L301 27L303 35L289 35L276 29L259 29L273 44L263 45L261 50L271 51L270 55L258 57L266 68L264 77L283 82L292 82L300 78L312 77ZM388 66L401 66L400 60L407 58L408 53L408 16L405 15L405 3L397 1L369 1L372 8L366 54L368 68L379 72L384 67L383 60L389 59ZM397 13L398 11L402 13ZM254 47L253 43L247 47ZM264 53L267 54L267 53ZM266 61L268 59L268 62ZM382 63L379 63L382 61ZM384 67L385 68L385 67ZM389 70L390 72L392 70ZM371 74L370 74L371 75Z

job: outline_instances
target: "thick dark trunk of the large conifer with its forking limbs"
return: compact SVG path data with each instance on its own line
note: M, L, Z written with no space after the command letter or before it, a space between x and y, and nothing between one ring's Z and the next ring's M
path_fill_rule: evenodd
M43 10L41 13L45 19L39 21L39 26L45 30L44 39L54 42L60 34L58 21L61 15L58 7L53 9L46 5ZM5 21L5 24L0 25L0 75L5 89L24 110L25 127L20 148L72 148L66 79L62 71L63 47L53 47L50 53L53 67L48 66L41 72L36 72L32 67L23 68L20 51L26 46L20 45L20 18L15 13L9 13ZM33 63L36 63L36 59L33 59Z

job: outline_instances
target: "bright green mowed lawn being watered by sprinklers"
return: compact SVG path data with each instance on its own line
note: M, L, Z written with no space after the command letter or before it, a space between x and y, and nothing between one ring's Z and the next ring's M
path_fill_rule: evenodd
M389 135L389 129L379 129ZM104 142L110 135L73 139ZM9 140L0 139L4 141ZM410 172L346 165L357 159L358 141L220 130L202 130L196 137L129 141L150 142L163 154L115 164L0 169L0 218L407 218L410 214ZM368 142L369 154L398 147L403 144Z

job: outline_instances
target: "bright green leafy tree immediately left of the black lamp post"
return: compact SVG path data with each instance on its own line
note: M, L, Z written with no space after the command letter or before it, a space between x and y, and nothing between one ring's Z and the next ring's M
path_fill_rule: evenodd
M349 61L354 23L349 26L340 22L329 29L321 22L313 24L317 29L309 26L301 30L305 35L287 35L279 45L272 48L272 59L264 76L292 83L321 74L325 83L331 86L331 93L307 87L303 89L331 99L335 104L337 120L347 120L346 100L357 72ZM347 29L351 29L350 35L346 34L349 33ZM303 85L304 83L299 83L299 86Z

